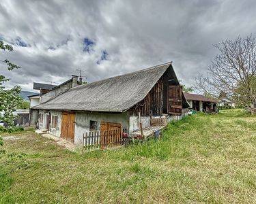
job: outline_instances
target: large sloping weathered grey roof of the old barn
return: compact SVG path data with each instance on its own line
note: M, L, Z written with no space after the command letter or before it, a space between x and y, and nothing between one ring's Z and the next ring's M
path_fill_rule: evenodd
M175 82L179 84L171 63L166 63L70 88L33 108L124 112L143 100L168 68Z

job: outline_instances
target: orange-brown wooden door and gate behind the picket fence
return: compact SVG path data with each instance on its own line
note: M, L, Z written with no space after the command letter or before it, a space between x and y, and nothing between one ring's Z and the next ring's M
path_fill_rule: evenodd
M120 146L122 144L122 125L113 122L100 123L101 148Z

